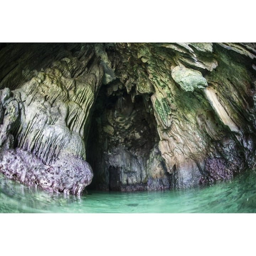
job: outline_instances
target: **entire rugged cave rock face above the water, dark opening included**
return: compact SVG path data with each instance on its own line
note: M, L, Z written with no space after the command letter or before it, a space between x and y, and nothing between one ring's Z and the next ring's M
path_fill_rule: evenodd
M255 167L255 43L1 43L0 172L47 191L185 188Z

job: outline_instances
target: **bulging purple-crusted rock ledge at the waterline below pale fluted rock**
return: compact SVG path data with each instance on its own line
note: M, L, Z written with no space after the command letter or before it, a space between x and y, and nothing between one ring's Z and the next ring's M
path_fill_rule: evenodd
M82 159L66 155L49 166L20 148L0 150L0 171L27 186L74 195L80 195L93 177L91 166Z

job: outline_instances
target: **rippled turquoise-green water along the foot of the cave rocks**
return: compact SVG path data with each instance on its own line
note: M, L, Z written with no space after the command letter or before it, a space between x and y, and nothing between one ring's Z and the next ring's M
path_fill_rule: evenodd
M230 181L172 191L88 191L65 196L0 175L0 213L255 213L256 172Z

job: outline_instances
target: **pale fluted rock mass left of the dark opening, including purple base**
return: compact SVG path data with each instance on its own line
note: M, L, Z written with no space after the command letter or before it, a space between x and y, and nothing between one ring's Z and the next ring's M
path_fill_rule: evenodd
M78 55L69 54L69 57L53 61L49 68L35 73L36 76L18 86L19 89L11 92L5 88L1 91L1 113L4 112L4 116L1 114L0 145L6 145L6 140L12 136L15 148L39 158L45 165L43 169L53 169L54 172L54 166L60 166L59 178L55 172L53 183L48 182L47 176L47 183L43 181L42 184L43 174L34 170L34 165L40 164L34 163L36 160L29 154L12 150L10 143L9 147L0 150L1 171L11 178L18 176L17 180L28 185L35 183L50 191L68 193L70 190L80 194L92 179L91 168L84 161L84 140L92 105L101 86L103 68L94 58L94 52L85 47ZM21 153L24 159L30 159L24 161L31 161L31 166L23 165L23 160L20 160L23 167L17 165L26 173L25 180L19 177L19 172L16 173L10 156L16 157ZM3 160L6 155L9 155L8 161ZM60 159L68 160L66 164L63 160L61 165ZM67 169L71 169L71 174L66 173ZM15 171L15 176L8 174L8 170Z

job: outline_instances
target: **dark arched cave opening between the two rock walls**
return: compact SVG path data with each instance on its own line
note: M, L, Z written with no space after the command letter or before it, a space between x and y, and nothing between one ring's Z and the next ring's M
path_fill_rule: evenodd
M146 190L150 152L159 135L150 95L109 94L102 86L95 102L86 147L94 171L92 190Z

